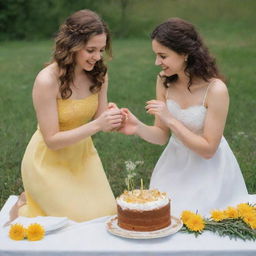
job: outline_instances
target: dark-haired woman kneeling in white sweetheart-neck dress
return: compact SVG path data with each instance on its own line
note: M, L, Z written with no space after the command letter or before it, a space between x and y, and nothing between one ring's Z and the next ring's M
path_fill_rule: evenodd
M172 18L152 35L157 77L156 99L146 103L155 124L140 122L128 109L120 132L154 144L172 136L153 171L150 188L166 191L172 213L203 215L248 200L239 165L223 137L228 90L194 26Z

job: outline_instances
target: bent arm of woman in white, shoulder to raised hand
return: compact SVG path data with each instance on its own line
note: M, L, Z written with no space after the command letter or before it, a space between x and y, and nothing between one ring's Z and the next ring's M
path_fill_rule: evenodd
M171 113L164 115L166 106L163 106L162 103L151 101L149 112L159 116L184 145L202 157L209 159L215 154L219 146L228 113L228 91L221 80L216 80L211 85L206 102L207 115L202 135L190 131L180 121L173 118ZM152 105L157 104L158 107L152 107Z

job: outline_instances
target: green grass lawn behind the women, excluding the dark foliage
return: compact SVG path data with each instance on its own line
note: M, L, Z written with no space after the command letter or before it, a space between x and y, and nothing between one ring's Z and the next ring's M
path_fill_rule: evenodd
M194 5L195 2L191 1ZM252 25L255 16L251 11L255 4L247 0L243 5L241 1L234 1L240 5L237 8L232 5L228 11L227 2L219 2L227 11L220 8L219 19L216 8L215 16L203 13L204 5L198 7L198 15L189 14L189 7L185 5L175 16L187 18L199 26L227 77L231 104L225 137L238 159L249 192L256 193L256 33ZM250 8L246 6L248 3ZM139 16L138 20L150 15L153 14ZM163 17L166 15L165 11ZM49 61L51 50L51 41L5 42L0 47L0 207L9 195L22 191L20 164L36 129L31 89L43 63ZM159 69L154 66L150 40L114 39L113 52L114 58L109 62L109 101L130 108L142 121L151 124L153 118L145 113L144 105L155 97ZM137 181L139 184L143 177L148 185L164 149L138 137L118 133L99 133L94 136L94 142L115 195L125 188L124 161L143 160Z

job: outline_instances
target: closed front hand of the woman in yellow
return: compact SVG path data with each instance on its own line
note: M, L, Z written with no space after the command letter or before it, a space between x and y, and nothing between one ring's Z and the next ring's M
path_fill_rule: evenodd
M122 112L118 108L108 108L95 121L103 132L118 129L122 124Z

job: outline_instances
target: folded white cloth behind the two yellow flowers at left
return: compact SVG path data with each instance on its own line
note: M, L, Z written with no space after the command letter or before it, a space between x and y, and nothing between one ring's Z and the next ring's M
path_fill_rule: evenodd
M51 216L38 216L34 218L18 217L11 224L22 224L28 227L30 224L38 223L43 226L46 232L54 231L56 229L63 228L69 222L66 217L51 217Z

